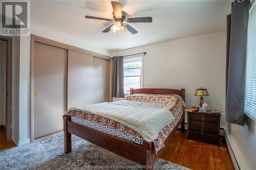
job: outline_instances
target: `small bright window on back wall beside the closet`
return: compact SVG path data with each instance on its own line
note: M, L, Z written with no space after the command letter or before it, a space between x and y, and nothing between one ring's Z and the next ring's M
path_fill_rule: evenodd
M123 58L124 94L130 94L130 88L142 87L142 57Z

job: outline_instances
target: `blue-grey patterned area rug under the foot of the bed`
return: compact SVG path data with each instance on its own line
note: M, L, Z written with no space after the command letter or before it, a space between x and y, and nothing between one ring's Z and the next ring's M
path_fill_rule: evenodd
M72 151L63 153L63 133L0 152L0 169L140 169L139 164L72 135ZM158 159L155 169L188 169Z

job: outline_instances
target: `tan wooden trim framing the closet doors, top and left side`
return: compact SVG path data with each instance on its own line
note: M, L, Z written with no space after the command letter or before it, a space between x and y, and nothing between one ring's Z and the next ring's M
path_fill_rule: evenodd
M34 93L34 47L35 47L35 42L41 42L44 44L64 48L64 49L67 49L68 51L72 50L72 51L76 51L79 53L83 53L83 54L87 54L87 55L91 55L94 57L99 57L99 58L103 58L103 59L112 61L112 57L94 53L94 52L84 50L79 47L75 47L72 45L68 45L65 43L61 43L58 41L54 41L51 39L47 39L44 37L40 37L40 36L31 34L31 41L30 41L30 141L34 140L34 96L33 96L33 93ZM68 58L69 58L69 56L68 56ZM69 69L69 67L68 67L68 69ZM110 72L112 72L112 68L111 68ZM110 80L110 82L112 82L112 80Z

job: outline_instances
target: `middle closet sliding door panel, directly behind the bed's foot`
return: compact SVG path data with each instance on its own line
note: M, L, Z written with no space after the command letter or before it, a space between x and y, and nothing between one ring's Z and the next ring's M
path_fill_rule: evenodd
M93 56L69 50L68 108L93 103Z

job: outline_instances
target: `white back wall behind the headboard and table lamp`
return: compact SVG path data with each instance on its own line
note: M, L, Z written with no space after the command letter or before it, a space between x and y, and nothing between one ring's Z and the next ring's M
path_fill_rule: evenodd
M126 55L146 52L144 88L185 88L187 107L198 106L197 88L207 88L204 102L225 110L225 31L164 41L113 52ZM225 126L225 116L221 117Z

